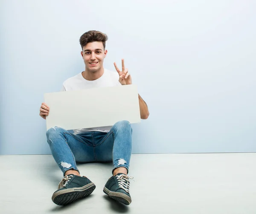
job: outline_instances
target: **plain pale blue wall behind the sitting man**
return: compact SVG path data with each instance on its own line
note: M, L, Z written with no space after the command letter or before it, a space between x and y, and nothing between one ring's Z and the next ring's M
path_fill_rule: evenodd
M0 154L49 154L44 93L84 69L79 37L109 36L150 117L133 153L256 152L253 0L0 1Z

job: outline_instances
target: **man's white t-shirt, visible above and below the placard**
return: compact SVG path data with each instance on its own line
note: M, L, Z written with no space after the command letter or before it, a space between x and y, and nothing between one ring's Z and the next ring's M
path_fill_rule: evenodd
M103 75L96 80L86 80L82 76L82 72L79 74L68 78L64 81L62 85L61 91L74 91L74 90L83 90L94 87L113 87L119 86L119 75L117 72L110 71L108 69L104 69ZM108 132L112 126L104 126L104 127L94 127L94 128L83 128L74 130L74 134L78 134L85 131L100 131L100 132Z

